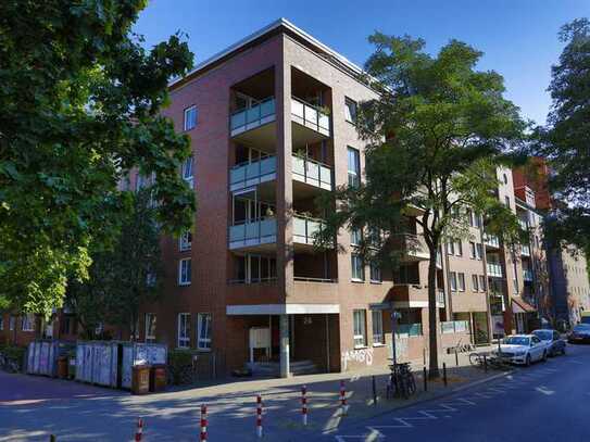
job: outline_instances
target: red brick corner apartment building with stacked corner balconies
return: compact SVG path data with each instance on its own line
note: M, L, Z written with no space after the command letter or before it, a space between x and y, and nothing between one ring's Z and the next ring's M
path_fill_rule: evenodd
M284 377L343 371L389 362L394 310L399 358L428 353L428 253L415 223L400 243L423 245L406 248L396 275L355 254L362 231L340 232L343 253L313 247L314 199L363 179L365 144L352 122L376 92L361 72L278 20L171 84L165 114L191 139L181 173L199 209L191 232L163 238L165 293L142 308L140 340L214 355L218 372L247 364ZM515 199L510 169L499 180L498 197L528 223L535 204ZM470 238L440 253L441 352L524 329L536 311L522 298L533 283L523 271L532 250L505 250L468 216Z

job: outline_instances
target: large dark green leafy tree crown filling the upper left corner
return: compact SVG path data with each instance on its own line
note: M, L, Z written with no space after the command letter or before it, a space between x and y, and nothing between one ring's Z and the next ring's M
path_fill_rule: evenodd
M0 2L0 305L49 315L89 249L116 237L117 184L154 174L164 229L191 225L178 176L188 137L161 115L192 54L180 36L151 50L130 33L146 0ZM114 230L111 230L110 228Z

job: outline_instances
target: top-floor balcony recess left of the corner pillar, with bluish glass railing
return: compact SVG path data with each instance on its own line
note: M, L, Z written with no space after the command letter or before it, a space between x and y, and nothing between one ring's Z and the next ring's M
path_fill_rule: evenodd
M230 89L229 135L259 149L276 144L275 73L266 70Z

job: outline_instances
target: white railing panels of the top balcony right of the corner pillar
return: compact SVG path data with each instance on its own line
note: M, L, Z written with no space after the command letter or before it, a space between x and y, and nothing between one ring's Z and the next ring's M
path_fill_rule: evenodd
M330 136L330 117L301 99L291 98L293 144L317 142Z

